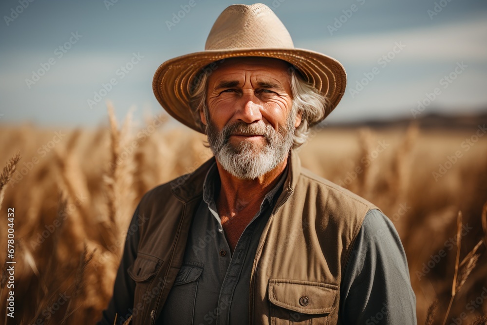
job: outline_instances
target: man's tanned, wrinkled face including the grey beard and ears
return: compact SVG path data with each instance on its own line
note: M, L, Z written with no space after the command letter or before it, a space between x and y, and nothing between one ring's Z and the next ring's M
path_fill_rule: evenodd
M232 58L208 77L201 118L215 157L236 177L269 172L292 146L301 119L292 113L287 70L278 59Z

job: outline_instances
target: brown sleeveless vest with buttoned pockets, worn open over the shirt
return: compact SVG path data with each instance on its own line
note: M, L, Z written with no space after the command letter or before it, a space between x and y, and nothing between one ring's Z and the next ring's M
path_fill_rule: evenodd
M206 161L144 195L138 213L133 324L154 324L183 262L191 219L203 194ZM367 211L365 199L301 168L291 169L262 232L250 277L251 324L337 324L341 275Z

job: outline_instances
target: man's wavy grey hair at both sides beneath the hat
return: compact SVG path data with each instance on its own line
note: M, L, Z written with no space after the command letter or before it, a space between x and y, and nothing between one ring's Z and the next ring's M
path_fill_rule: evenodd
M206 82L213 70L205 69L193 81L193 88L190 92L189 105L196 124L201 130L205 130L205 125L201 121L200 111L203 110L206 120L209 121L208 108L206 106ZM296 69L288 69L291 75L291 93L293 96L291 114L296 116L301 112L301 124L294 132L293 148L298 148L308 138L312 125L320 121L329 107L329 100L321 95L312 84L304 80Z

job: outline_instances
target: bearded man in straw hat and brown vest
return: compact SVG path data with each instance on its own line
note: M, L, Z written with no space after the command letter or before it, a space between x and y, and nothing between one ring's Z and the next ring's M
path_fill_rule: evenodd
M392 223L293 150L345 84L263 4L226 8L206 51L163 63L155 96L214 157L145 194L100 324L416 324Z

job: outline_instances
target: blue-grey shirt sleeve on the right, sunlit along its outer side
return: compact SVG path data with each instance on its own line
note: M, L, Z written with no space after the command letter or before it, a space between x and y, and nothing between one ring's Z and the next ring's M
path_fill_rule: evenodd
M365 216L340 288L339 324L417 324L408 261L393 223Z

